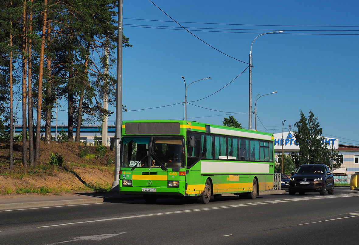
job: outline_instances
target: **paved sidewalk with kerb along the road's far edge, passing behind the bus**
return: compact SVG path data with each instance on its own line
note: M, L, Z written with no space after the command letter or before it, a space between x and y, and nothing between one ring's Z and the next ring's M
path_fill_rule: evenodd
M259 195L283 193L285 193L285 190L266 190L265 192L260 192ZM60 193L59 195L10 194L0 196L0 211L76 204L121 202L130 198L143 199L142 195L121 195L117 192Z

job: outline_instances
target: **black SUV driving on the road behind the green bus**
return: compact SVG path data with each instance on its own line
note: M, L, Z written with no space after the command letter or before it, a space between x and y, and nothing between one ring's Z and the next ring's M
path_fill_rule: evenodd
M334 177L326 165L304 164L292 172L289 179L289 195L304 195L306 192L319 192L321 195L334 194Z

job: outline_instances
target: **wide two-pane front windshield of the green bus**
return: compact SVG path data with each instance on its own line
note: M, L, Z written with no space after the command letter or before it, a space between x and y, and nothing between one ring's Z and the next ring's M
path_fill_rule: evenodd
M185 140L181 137L123 137L121 167L183 168Z

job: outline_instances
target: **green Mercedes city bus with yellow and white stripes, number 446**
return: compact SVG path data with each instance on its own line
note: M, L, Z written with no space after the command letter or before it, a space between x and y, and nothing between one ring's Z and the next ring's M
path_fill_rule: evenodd
M224 193L273 188L274 136L233 127L179 120L122 122L119 191L196 197L208 203Z

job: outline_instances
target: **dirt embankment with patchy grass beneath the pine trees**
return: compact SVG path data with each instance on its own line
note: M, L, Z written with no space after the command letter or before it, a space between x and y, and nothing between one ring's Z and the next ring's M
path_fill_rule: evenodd
M111 188L115 152L108 147L99 149L73 142L51 142L49 145L41 142L40 148L40 160L35 166L28 164L24 167L22 143L14 143L14 169L10 170L9 144L0 143L0 194L44 194ZM61 165L50 164L51 153L63 157Z

